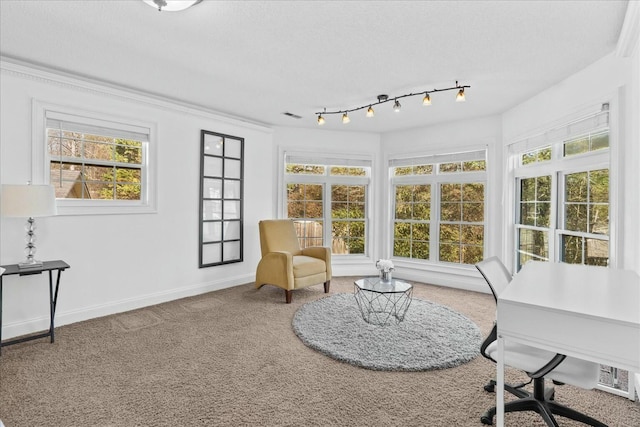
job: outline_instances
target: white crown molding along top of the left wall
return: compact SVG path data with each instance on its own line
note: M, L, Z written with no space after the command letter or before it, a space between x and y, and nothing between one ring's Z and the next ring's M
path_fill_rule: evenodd
M98 80L89 76L73 74L34 64L17 58L0 56L0 70L17 77L43 82L67 89L108 96L128 102L137 102L164 110L204 117L234 126L241 126L261 132L273 133L273 128L265 123L254 122L243 117L220 113L202 105L144 92L114 83Z

